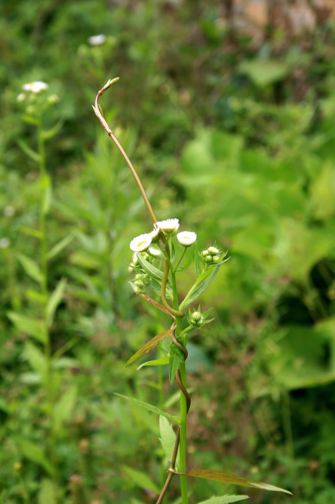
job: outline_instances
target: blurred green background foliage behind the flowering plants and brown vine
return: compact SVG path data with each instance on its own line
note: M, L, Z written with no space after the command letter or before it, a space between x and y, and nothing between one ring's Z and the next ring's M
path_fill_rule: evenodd
M54 352L66 350L55 369L62 502L152 502L164 475L158 420L113 396L157 402L156 371L123 366L166 325L127 283L129 241L150 223L91 108L117 75L104 110L159 218L179 217L200 246L216 239L231 256L204 301L216 325L190 344L190 467L269 480L295 504L335 498L335 26L323 20L308 44L284 34L281 45L255 45L222 23L221 8L0 6L0 503L53 501L39 354L9 317L36 312L19 260L37 254L27 233L37 224L37 168L20 147L35 149L36 138L16 101L33 80L60 98L49 125L62 122L47 143L48 247L58 247L50 290L67 279L52 326ZM106 42L90 46L97 33ZM194 502L224 493L202 481L192 491Z

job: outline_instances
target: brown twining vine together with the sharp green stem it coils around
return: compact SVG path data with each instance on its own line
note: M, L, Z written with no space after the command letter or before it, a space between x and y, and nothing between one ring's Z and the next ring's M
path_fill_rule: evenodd
M140 193L142 195L142 198L144 200L144 203L146 205L146 208L148 210L148 213L150 215L151 220L155 224L157 222L157 218L154 214L154 211L151 207L150 201L147 197L147 194L144 190L144 187L142 185L142 182L132 165L129 157L127 156L125 150L123 149L122 145L120 142L117 140L115 137L114 133L110 129L109 125L107 124L102 109L99 105L99 98L100 96L115 82L119 80L118 77L115 79L110 79L105 86L98 91L98 94L96 96L95 100L95 106L93 107L94 112L96 116L98 117L100 123L102 124L103 128L107 132L108 136L113 140L113 142L116 144L118 147L119 151L121 152L122 156L124 157L127 165L129 166L129 169L135 178L135 181L138 185L138 188L140 190ZM185 348L185 346L178 340L179 335L182 332L182 319L185 316L185 313L180 310L179 308L179 301L178 301L178 294L177 294L177 286L176 286L176 278L175 278L175 271L172 268L172 264L170 261L171 254L170 254L170 247L169 243L166 242L166 238L163 234L162 231L159 232L159 235L162 239L162 241L165 243L165 253L166 253L166 261L165 261L165 268L163 272L163 279L162 279L162 284L161 284L161 299L162 303L167 308L170 313L173 314L175 318L175 325L177 326L175 331L172 333L172 341L175 343L176 346L179 347L179 349L183 352L184 354L184 362L181 363L180 369L177 369L176 372L176 382L181 390L181 425L178 427L177 433L176 433L176 442L175 442L175 447L173 451L173 456L171 460L171 467L169 469L169 474L167 475L165 484L160 492L160 495L158 497L158 500L156 504L160 504L165 496L165 493L167 489L170 486L171 480L173 478L173 475L176 472L176 460L177 460L177 454L178 454L178 448L180 448L180 469L181 472L186 473L186 427L187 427L187 413L190 409L191 405L191 398L190 395L186 389L186 368L185 368L185 360L187 359L188 352ZM171 276L172 276L172 283L173 283L173 304L174 306L171 306L169 302L166 299L166 284L167 284L167 279L169 277L169 273L171 271ZM187 490L187 481L186 481L186 476L181 476L181 492L182 492L182 504L188 504L188 490Z

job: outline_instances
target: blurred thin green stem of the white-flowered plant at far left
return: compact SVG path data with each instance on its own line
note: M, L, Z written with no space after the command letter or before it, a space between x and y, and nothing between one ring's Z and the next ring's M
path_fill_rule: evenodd
M47 243L46 243L46 209L45 209L45 193L46 193L46 163L45 163L45 148L43 139L43 124L40 117L37 124L37 139L39 153L39 170L40 170L40 209L39 209L39 227L40 227L40 262L41 262L41 293L43 295L43 332L44 332L44 355L46 362L45 385L47 393L47 414L49 417L50 426L50 462L52 467L52 477L54 483L54 493L57 495L57 462L55 455L55 433L54 433L54 400L53 400L53 379L52 379L52 359L51 359L51 338L49 332L47 302L48 302L48 259L47 259ZM56 497L55 497L56 498Z

